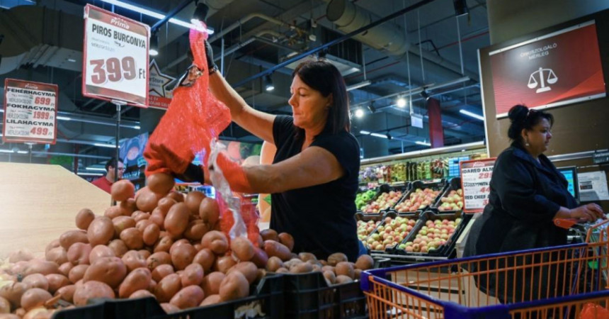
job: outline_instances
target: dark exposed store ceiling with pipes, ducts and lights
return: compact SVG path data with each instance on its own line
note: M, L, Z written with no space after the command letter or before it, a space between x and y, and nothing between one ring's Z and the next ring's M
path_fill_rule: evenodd
M188 21L195 10L194 1L123 2L166 14L185 1L186 6L175 17ZM289 86L297 61L276 66L313 52L333 61L343 72L351 99L352 133L358 137L365 157L426 147L421 145L429 140L423 90L440 101L445 145L484 139L484 122L462 110L482 115L477 49L489 45L485 0L468 0L469 15L459 17L451 0L204 2L210 6L207 23L215 30L210 43L217 65L229 83L257 109L291 113ZM423 2L429 3L408 11ZM81 157L90 163L113 155L110 147L93 144L113 145L115 106L81 95L83 8L87 3L150 26L158 21L101 0L0 1L0 35L4 35L0 42L0 79L59 86L59 115L64 119L59 121L57 145L34 145L35 157L46 157L47 152L79 154L86 155ZM315 50L399 11L408 12ZM164 23L157 34L159 55L155 60L162 72L178 77L188 67L188 30ZM271 75L273 91L265 89L266 73ZM4 99L2 96L0 99ZM398 106L397 99L401 97L406 99L406 106ZM356 117L355 112L363 116ZM123 108L120 138L152 132L162 113ZM423 116L423 128L413 127L411 113ZM362 131L390 135L391 139ZM237 125L227 128L222 138L259 141ZM27 150L25 145L17 144L0 145L0 150L14 147ZM6 160L6 156L0 152L0 160Z

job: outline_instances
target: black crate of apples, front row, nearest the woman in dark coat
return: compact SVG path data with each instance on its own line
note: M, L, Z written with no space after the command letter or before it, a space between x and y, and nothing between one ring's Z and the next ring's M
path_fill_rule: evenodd
M459 238L471 219L472 215L462 213L461 211L457 211L453 214L436 214L433 211L426 211L421 214L419 222L416 223L409 236L395 247L394 252L414 257L415 259L417 257L421 257L422 259L424 259L424 257L451 257L455 250L457 238ZM457 220L459 221L457 222ZM453 233L450 232L451 222L458 223L458 225L455 225L455 228L453 228ZM433 226L430 224L433 224ZM438 224L439 227L437 226ZM428 235L429 228L433 230L433 237ZM436 232L435 229L438 229L439 231ZM445 237L442 235L443 230L447 230L447 235ZM417 237L417 235L421 235L421 237ZM442 236L440 238L440 242L442 242L441 245L438 245L433 250L421 251L421 241L426 243L432 241L436 242L436 237L438 235ZM427 239L423 236L426 236ZM411 245L409 245L409 243L411 243ZM412 251L409 250L409 246L413 248Z

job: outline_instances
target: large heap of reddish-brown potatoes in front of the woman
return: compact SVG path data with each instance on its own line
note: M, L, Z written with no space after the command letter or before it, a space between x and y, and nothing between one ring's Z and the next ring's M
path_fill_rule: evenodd
M173 313L244 298L266 272L323 272L328 284L342 284L373 267L368 255L354 264L341 253L327 261L294 254L292 236L275 230L263 230L256 245L229 240L216 201L171 189L169 175L155 174L133 198L133 184L118 181L118 205L103 216L79 211L78 229L50 242L45 259L13 252L0 267L0 319L50 318L91 298L145 296Z

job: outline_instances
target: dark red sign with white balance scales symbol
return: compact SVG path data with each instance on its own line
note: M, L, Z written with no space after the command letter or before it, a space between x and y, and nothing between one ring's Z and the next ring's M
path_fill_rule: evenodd
M594 21L489 55L497 118L516 104L550 108L606 96Z

